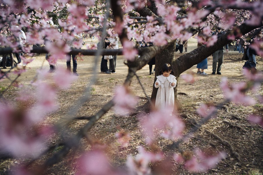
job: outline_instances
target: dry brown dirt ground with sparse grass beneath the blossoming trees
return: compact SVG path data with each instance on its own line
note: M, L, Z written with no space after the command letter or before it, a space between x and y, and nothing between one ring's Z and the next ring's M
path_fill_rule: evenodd
M196 46L196 40L191 38L188 43L188 51L191 51ZM176 56L180 56L177 54ZM235 51L230 51L224 54L224 62L222 67L222 75L212 75L212 57L208 57L208 73L207 76L196 75L197 81L193 84L184 82L181 78L178 81L178 92L184 92L185 95L178 95L178 99L181 103L181 109L179 113L186 113L191 115L196 120L200 120L200 116L195 112L201 103L212 103L219 104L224 101L222 90L219 87L219 83L223 76L229 78L231 83L238 83L245 81L242 75L242 66L244 61L241 60L242 55ZM28 65L28 71L18 78L18 82L24 84L23 88L30 89L30 82L34 78L36 71L41 67L48 71L49 65L44 58L44 55L35 57L36 60ZM82 106L79 106L75 116L91 116L95 114L104 104L106 104L113 96L114 89L118 85L122 85L127 75L127 67L123 64L124 60L122 56L117 57L117 73L116 74L103 74L100 73L100 60L99 57L96 72L97 80L91 89L91 99L86 101ZM257 57L257 69L263 70L262 57ZM72 87L68 90L61 90L58 93L59 108L55 113L51 113L46 118L46 123L57 123L61 119L67 117L67 113L73 108L77 101L82 97L83 92L91 77L94 76L94 57L93 56L82 56L78 58L77 71L79 77L77 81L72 84ZM66 68L65 61L59 61L58 65ZM60 68L61 69L61 68ZM139 70L141 82L146 90L148 96L151 95L154 76L149 75L148 65ZM193 66L188 71L196 72L196 66ZM186 72L188 72L186 71ZM51 73L52 76L52 73ZM13 79L14 76L10 75ZM9 85L10 81L7 79L0 82L0 88L5 89ZM132 92L139 96L145 97L143 90L140 88L138 81L134 78L131 85ZM16 95L15 87L11 87L4 94L4 98L13 101ZM249 92L252 94L251 92ZM260 87L260 95L263 95L262 86ZM139 105L146 102L146 99L140 98ZM189 141L182 143L181 149L184 151L192 152L194 148L212 148L212 145L216 145L216 150L224 150L227 153L226 159L218 163L217 167L209 170L206 174L262 174L263 160L262 160L262 128L258 125L249 123L246 119L250 113L254 113L262 116L263 106L258 103L254 106L240 106L228 103L225 105L226 110L218 110L216 118L209 120L203 125L198 132L195 133L197 139L190 139ZM228 123L238 127L233 127ZM84 126L87 121L78 120L70 124L68 133L69 136L76 133L79 128ZM188 123L186 124L187 130L191 127ZM120 129L129 131L131 134L130 144L127 148L121 148L115 139L115 133ZM221 142L219 139L214 138L210 133L217 134L221 139L227 141L232 147L226 145L226 142ZM141 134L141 126L139 125L136 115L128 115L126 117L119 117L114 114L114 110L110 109L91 129L89 135L94 140L108 145L108 155L111 157L113 164L123 165L126 161L127 155L136 155L137 146L143 145L148 150L150 149L144 142ZM202 141L198 140L201 139ZM58 137L53 138L52 143L59 142ZM166 153L169 153L169 144L172 141L168 139L160 138L158 144L160 148ZM89 150L90 146L83 139L82 150ZM55 150L58 151L60 148ZM237 159L233 155L233 151L236 152L240 158ZM173 153L176 153L174 150ZM41 163L46 160L47 156L44 156L37 163ZM76 156L73 156L71 152L62 162L55 164L50 167L44 174L75 174L76 169L72 168L72 164L75 164ZM18 164L22 160L19 159L8 159L0 160L0 174L6 174L8 169L13 165ZM174 163L172 165L172 173L170 174L191 174L182 168L182 164Z

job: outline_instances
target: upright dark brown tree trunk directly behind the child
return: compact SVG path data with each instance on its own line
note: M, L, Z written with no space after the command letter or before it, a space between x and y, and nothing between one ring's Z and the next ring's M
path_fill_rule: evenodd
M172 65L172 70L175 73L174 76L176 76L176 79L178 81L178 77L180 74L178 74L177 71L175 71L175 69L177 68L174 67L175 65L174 61L176 60L174 55L175 55L175 42L173 42L167 49L162 51L160 54L155 56L155 78L153 82L153 91L151 95L151 101L153 102L153 104L155 104L155 99L158 90L158 88L154 87L154 83L157 79L156 76L160 75L160 71L164 63L169 63ZM177 85L174 88L174 100L177 101Z

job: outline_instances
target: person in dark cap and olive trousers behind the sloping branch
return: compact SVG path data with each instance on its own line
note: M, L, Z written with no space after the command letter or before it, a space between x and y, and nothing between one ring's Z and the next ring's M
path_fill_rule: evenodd
M221 27L217 27L217 30L212 33L212 35L217 35L217 39L223 35L223 31ZM226 44L226 53L228 53L228 44ZM217 71L218 75L221 75L221 67L224 58L224 46L213 53L213 64L212 64L212 74L215 74ZM217 65L218 62L218 65Z

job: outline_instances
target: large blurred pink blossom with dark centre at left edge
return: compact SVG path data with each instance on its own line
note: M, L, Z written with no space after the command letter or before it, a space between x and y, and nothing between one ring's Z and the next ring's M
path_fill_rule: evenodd
M0 149L15 157L37 157L45 150L51 128L36 127L23 110L0 103Z

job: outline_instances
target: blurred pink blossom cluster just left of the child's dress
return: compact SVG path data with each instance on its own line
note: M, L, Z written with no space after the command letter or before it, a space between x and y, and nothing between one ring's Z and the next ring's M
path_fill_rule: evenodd
M115 90L113 102L115 103L115 113L127 115L131 109L134 109L138 102L138 97L131 95L126 87L119 86Z

